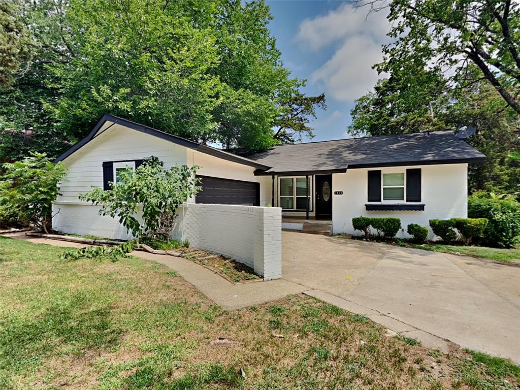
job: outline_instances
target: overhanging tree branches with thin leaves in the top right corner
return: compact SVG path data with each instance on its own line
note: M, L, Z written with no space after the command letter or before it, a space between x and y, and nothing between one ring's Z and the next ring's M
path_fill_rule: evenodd
M448 85L464 88L470 64L496 89L506 106L520 114L520 4L512 0L372 0L372 11L389 9L394 41L383 46L379 72L395 73L407 64L428 63Z

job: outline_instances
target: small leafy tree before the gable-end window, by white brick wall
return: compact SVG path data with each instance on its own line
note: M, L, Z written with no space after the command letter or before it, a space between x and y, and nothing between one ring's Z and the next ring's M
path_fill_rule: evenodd
M81 194L80 199L100 205L99 215L119 217L119 222L136 238L167 240L179 205L200 190L195 176L197 169L197 166L174 165L163 170L162 162L152 156L135 171L118 173L121 181L112 183L110 190L93 187L92 191Z

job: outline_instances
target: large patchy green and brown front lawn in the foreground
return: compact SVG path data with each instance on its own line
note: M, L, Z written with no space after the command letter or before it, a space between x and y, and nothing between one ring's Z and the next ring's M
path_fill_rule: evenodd
M313 298L225 311L137 258L60 259L0 237L2 389L517 388L509 361L444 355Z

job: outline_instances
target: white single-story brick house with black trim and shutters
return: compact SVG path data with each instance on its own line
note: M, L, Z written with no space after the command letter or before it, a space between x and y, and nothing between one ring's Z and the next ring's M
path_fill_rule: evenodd
M280 256L273 248L281 245L281 227L356 233L352 218L360 215L399 217L404 227L466 217L467 165L485 158L451 131L282 145L242 157L103 115L56 159L69 172L53 205L53 227L128 238L117 220L100 216L99 206L78 195L91 186L108 189L119 170L134 169L150 155L165 168L200 166L202 191L179 210L173 236L252 266L262 258L255 268L264 276L270 256Z

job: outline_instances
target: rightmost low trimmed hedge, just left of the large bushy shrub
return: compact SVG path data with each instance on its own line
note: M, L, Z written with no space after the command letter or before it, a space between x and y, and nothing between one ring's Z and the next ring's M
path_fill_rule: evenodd
M473 237L482 237L488 224L486 218L430 219L430 226L443 241L461 240L469 245Z

